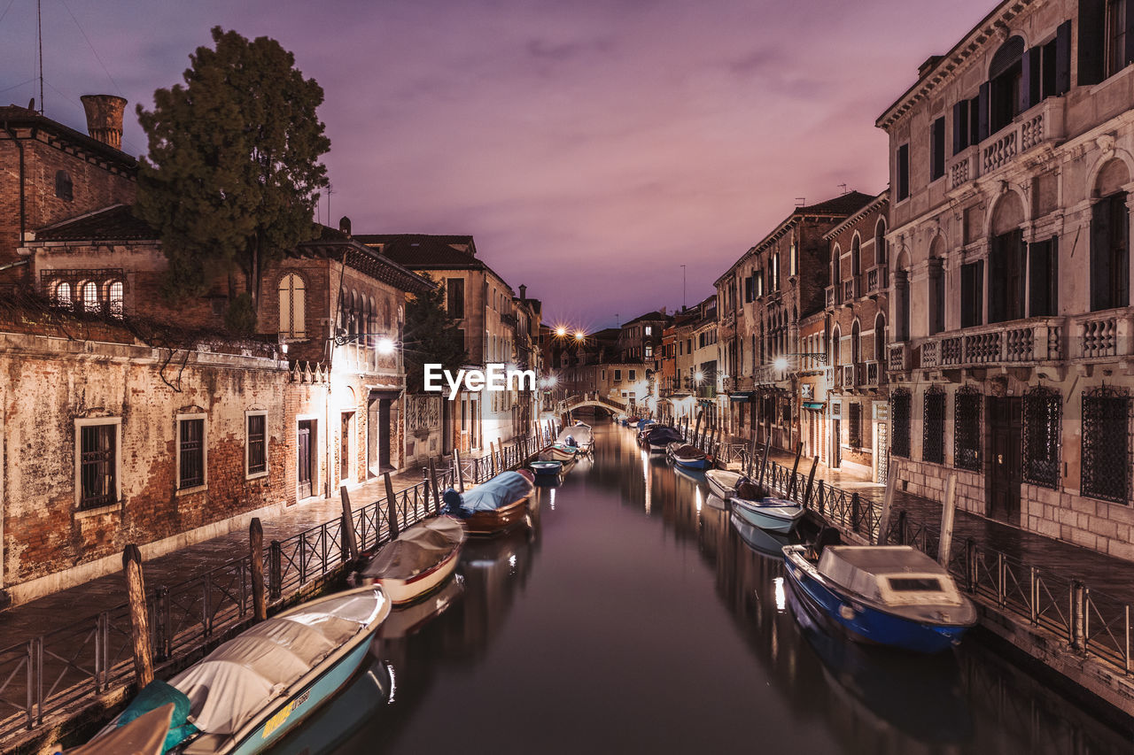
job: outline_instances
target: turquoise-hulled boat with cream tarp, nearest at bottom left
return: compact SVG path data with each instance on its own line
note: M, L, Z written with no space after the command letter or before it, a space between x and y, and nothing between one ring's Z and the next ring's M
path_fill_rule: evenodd
M146 685L91 745L132 716L172 702L167 752L264 752L350 681L389 613L382 588L365 585L265 619L169 682Z

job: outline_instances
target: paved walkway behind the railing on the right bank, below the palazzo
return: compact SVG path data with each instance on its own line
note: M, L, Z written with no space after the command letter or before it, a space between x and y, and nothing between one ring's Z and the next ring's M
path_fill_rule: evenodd
M770 460L792 468L795 457L772 449ZM801 459L799 472L811 470L811 461ZM881 506L886 486L872 483L861 475L829 469L820 464L815 480L857 492L861 500L870 500ZM909 524L923 524L934 533L941 528L941 502L920 495L895 491L894 512L905 510ZM953 542L973 538L985 549L1000 551L1005 555L1030 566L1040 567L1063 579L1081 579L1092 593L1101 592L1115 602L1134 604L1134 562L1092 551L1080 545L1026 532L1019 527L985 519L984 517L957 510L954 518Z

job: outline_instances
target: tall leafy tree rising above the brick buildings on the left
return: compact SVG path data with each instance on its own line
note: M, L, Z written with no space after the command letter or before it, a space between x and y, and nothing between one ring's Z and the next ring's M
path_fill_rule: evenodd
M312 222L330 149L315 110L323 90L266 36L212 29L215 49L189 56L185 84L138 105L150 154L141 161L135 213L161 235L167 294L201 294L210 278L244 274L254 313L261 271L314 238Z

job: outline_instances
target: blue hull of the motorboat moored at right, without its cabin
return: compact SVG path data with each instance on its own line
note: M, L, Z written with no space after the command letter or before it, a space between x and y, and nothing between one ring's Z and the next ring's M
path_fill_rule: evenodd
M939 653L960 642L968 629L966 626L913 621L865 605L819 578L798 549L785 548L784 563L804 610L855 642L915 653Z

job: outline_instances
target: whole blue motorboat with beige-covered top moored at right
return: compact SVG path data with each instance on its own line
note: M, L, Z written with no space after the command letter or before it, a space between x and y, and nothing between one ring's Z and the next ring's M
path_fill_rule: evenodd
M976 609L933 559L908 545L831 545L816 561L784 548L803 608L855 642L937 653L958 642Z

